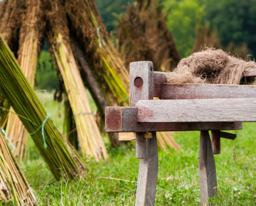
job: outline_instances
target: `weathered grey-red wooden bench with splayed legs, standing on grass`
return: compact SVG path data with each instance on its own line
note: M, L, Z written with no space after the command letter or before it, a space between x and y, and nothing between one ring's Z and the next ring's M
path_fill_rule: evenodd
M246 70L244 76L255 77L255 71ZM140 159L136 206L155 203L157 131L201 131L199 177L203 205L208 197L218 195L214 154L220 153L220 138L236 138L220 130L242 129L242 122L256 122L256 86L171 84L168 75L172 73L154 72L152 62L132 62L130 107L106 108L106 131L120 132L120 140L136 139L136 157Z

